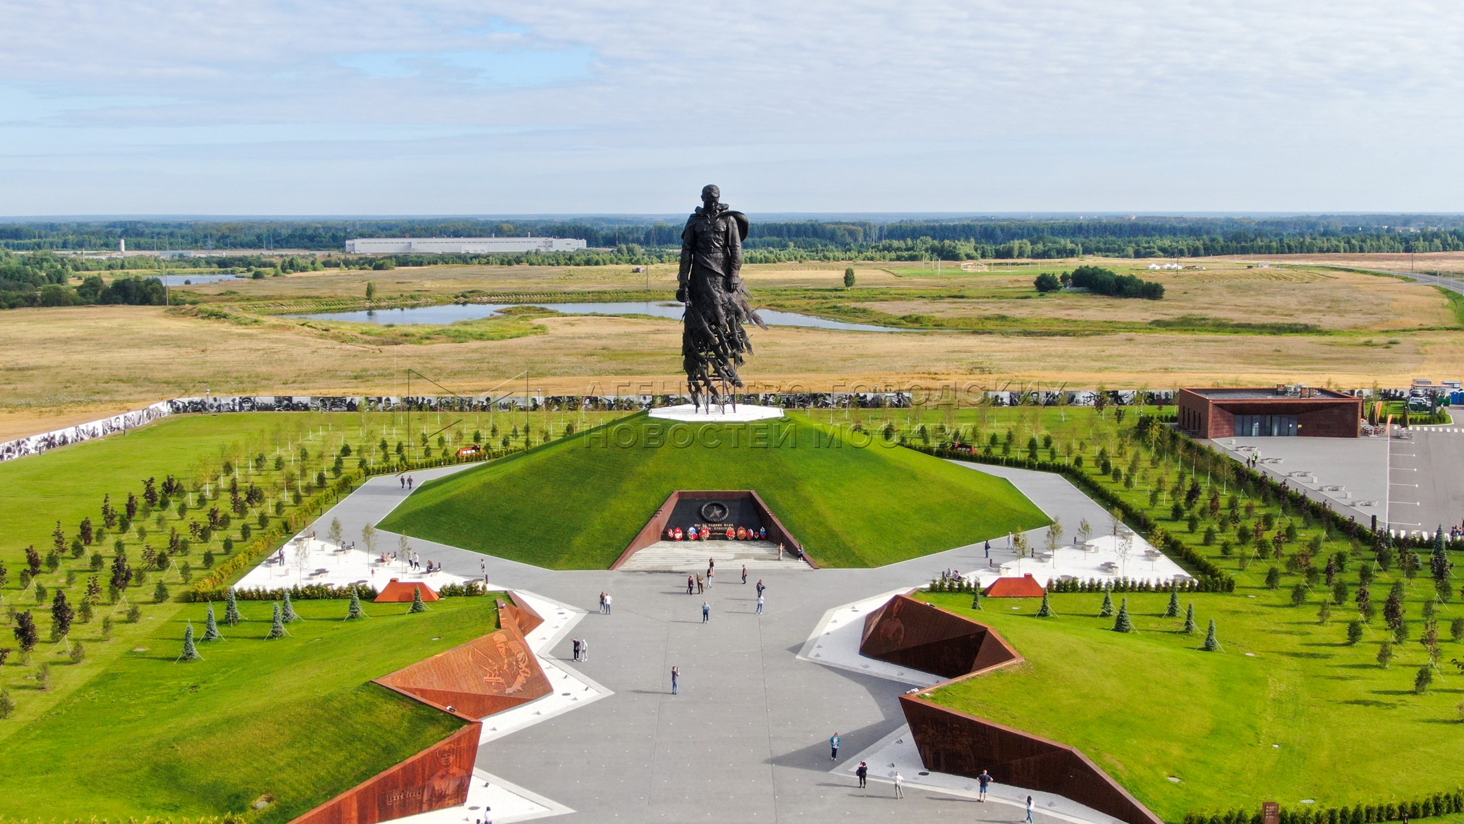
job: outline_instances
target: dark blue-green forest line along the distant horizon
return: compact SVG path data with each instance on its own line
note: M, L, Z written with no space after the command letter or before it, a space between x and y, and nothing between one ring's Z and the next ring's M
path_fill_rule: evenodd
M0 249L129 250L306 249L341 253L353 237L556 236L584 239L574 253L391 256L419 261L527 263L646 263L675 259L681 225L615 218L553 220L280 220L280 221L76 221L0 224ZM1464 250L1464 218L1438 215L1342 215L1284 218L1101 220L911 220L758 222L747 239L750 262L979 261L1017 258L1196 258ZM231 261L227 265L239 265ZM198 265L198 263L193 263ZM225 265L225 263L205 263Z

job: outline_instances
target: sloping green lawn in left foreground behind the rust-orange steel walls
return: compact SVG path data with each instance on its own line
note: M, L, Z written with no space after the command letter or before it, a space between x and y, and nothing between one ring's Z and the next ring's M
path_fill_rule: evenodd
M369 681L496 628L493 602L408 606L366 604L370 619L347 622L346 602L299 602L306 621L266 641L271 604L242 603L244 622L192 663L176 657L184 621L202 635L205 606L160 619L0 745L0 817L214 815L271 793L252 821L290 821L460 726ZM89 635L73 634L98 648Z

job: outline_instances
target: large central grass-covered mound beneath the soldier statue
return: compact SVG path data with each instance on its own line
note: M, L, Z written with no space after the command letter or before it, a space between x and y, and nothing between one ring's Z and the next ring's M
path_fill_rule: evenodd
M425 484L381 527L603 569L678 489L757 490L823 566L880 566L1047 523L1003 479L867 441L801 417L690 426L635 416Z

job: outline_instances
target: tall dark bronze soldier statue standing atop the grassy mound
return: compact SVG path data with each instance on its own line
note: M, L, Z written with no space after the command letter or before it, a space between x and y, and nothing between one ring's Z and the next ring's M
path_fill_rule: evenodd
M752 353L752 341L742 329L745 321L761 328L742 285L742 241L747 240L747 215L719 202L716 186L701 189L701 206L687 218L681 231L681 272L676 300L687 306L682 316L681 360L687 370L691 401L707 411L713 402L726 402L728 385L742 385L736 367Z

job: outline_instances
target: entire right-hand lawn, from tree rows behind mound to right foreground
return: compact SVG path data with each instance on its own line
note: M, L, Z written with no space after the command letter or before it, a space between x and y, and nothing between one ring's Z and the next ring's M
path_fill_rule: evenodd
M1097 618L1101 594L1053 596L1060 618L1050 621L1034 618L1037 602L987 600L976 618L997 626L1029 663L952 686L938 698L1079 746L1170 821L1186 812L1256 808L1261 801L1331 806L1452 790L1458 780L1448 765L1464 757L1464 739L1448 730L1461 717L1464 682L1449 662L1464 659L1464 632L1452 626L1457 594L1435 603L1427 550L1410 572L1403 552L1379 556L1328 531L1247 482L1233 461L1183 449L1164 430L1139 436L1135 410L1126 410L1123 423L1116 411L930 410L895 413L892 423L912 442L922 441L922 423L935 442L952 427L984 446L996 435L994 457L1026 458L1032 438L1042 461L1076 467L1082 457L1079 474L1233 575L1236 593L1183 599L1196 604L1196 635L1181 634L1179 619L1158 618L1165 594L1127 596L1135 635L1113 632L1111 618ZM877 424L880 413L867 414L874 420L865 424ZM1101 471L1102 455L1120 477ZM1192 482L1199 495L1186 506ZM1075 527L1064 524L1064 534ZM1094 527L1107 531L1107 524ZM1340 562L1334 584L1326 581L1329 559ZM1364 618L1356 600L1363 585L1376 615L1353 644L1348 625ZM1401 635L1383 618L1395 585L1403 591ZM969 596L933 600L956 612L971 604ZM1438 612L1441 664L1433 686L1416 695L1414 678L1429 666L1420 640L1430 609ZM1198 650L1211 618L1222 654ZM1394 656L1386 669L1378 663L1385 641ZM1379 782L1379 764L1400 767Z

